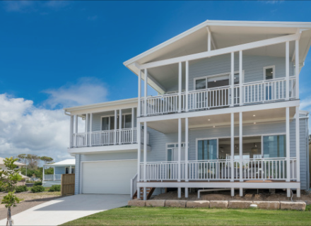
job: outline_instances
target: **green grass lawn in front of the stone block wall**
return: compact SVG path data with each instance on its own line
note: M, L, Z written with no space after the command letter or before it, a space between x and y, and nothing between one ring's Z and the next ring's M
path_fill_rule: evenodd
M310 222L309 211L127 206L64 225L310 225Z

